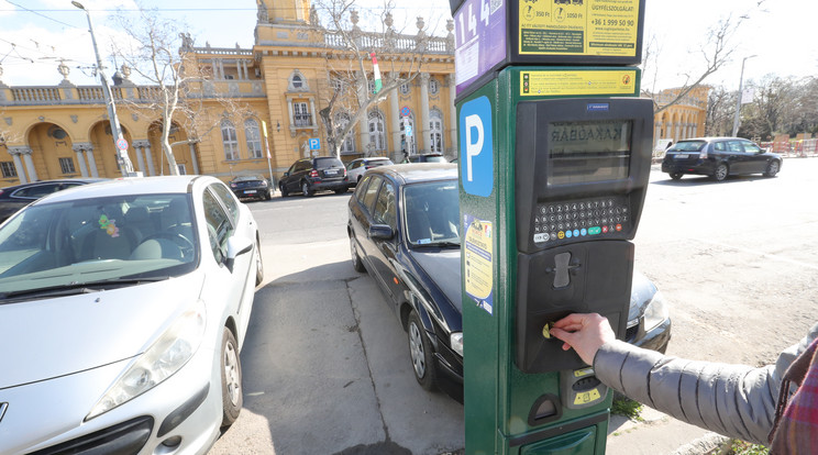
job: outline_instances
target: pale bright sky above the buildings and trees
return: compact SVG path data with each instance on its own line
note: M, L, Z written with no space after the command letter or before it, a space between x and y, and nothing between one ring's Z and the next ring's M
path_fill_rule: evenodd
M434 34L445 35L451 19L447 0L394 0L396 25L414 33L423 16ZM744 63L744 85L767 75L806 78L818 76L818 2L814 0L645 0L644 40L655 37L659 62L645 69L643 88L663 89L685 84L685 74L699 75L707 48L708 27L719 20L742 19L731 40L731 60L705 84L738 89ZM81 0L90 12L108 76L113 74L111 43L121 40L112 15L121 9L135 14L134 0ZM362 22L374 21L379 0L358 0ZM188 25L197 46L253 46L255 0L143 0L163 16ZM401 18L402 15L402 18ZM750 58L745 58L750 57ZM86 13L70 0L0 0L0 81L9 86L54 86L65 59L76 85L98 84ZM121 65L121 62L119 63ZM655 78L653 77L655 75ZM655 79L655 80L654 80Z

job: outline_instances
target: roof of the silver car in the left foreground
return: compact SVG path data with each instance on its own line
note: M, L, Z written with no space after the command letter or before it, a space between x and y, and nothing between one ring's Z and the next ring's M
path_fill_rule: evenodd
M118 178L114 180L100 181L93 185L84 185L57 191L37 200L34 204L71 201L88 198L104 198L109 196L128 195L157 195L157 193L186 193L196 181L221 181L211 176L161 176L161 177L136 177Z

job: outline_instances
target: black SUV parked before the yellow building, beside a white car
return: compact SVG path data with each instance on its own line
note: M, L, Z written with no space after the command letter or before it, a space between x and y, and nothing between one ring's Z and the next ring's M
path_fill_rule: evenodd
M312 196L316 191L335 191L336 195L341 195L350 190L350 180L340 159L321 156L294 163L278 181L278 189L281 190L283 197L291 192Z

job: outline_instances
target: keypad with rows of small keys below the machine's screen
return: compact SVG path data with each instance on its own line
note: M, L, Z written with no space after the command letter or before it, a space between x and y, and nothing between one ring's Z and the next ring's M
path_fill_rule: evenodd
M535 210L533 240L538 246L621 237L631 229L628 198L623 196L545 202Z

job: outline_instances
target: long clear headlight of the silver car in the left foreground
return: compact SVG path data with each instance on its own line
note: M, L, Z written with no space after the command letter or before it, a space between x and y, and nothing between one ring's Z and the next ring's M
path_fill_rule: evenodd
M151 390L179 370L196 353L204 334L204 302L185 311L106 391L89 421Z

